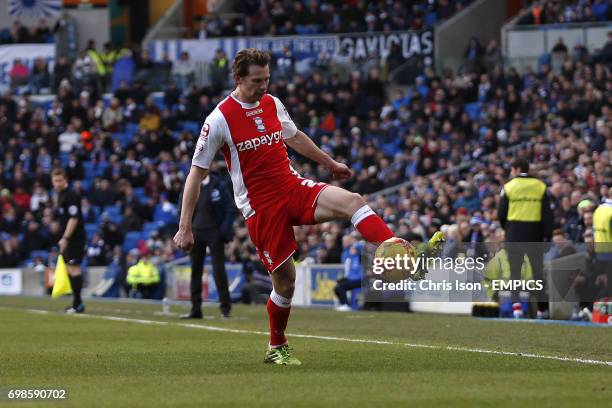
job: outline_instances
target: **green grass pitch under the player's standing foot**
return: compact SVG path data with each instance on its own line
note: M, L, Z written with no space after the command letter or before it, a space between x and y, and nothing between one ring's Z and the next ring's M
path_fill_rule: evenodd
M612 328L294 308L289 340L303 365L280 367L262 363L264 307L236 306L229 320L206 307L210 317L185 325L160 316L160 305L89 301L87 317L78 317L59 313L64 303L0 298L0 389L69 392L61 402L0 406L595 407L612 401L612 365L600 364L612 361Z

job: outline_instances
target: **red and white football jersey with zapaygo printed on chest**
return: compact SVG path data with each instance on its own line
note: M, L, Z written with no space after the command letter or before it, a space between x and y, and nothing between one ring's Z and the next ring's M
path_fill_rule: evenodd
M284 143L296 133L297 127L278 98L266 94L261 101L248 104L230 95L204 121L192 164L207 169L221 150L236 205L248 218L288 193L299 178Z

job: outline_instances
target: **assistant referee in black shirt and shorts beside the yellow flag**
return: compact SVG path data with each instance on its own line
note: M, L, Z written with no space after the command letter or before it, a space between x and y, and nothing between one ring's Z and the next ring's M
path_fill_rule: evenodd
M55 217L64 231L60 239L59 252L64 257L68 269L68 278L72 286L72 306L66 308L66 313L83 313L85 305L81 300L83 276L81 262L85 256L87 234L83 225L81 197L68 188L68 177L62 168L51 172L51 183L55 190Z

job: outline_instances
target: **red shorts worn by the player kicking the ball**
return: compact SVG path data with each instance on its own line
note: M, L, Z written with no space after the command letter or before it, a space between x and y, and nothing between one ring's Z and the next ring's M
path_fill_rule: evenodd
M315 223L314 212L325 183L297 179L295 187L265 208L255 208L246 224L251 241L268 272L273 273L298 249L294 225Z

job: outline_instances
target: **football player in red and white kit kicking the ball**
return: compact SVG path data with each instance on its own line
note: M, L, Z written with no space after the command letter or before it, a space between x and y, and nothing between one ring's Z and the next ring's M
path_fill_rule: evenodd
M272 277L267 310L270 344L265 362L299 365L287 345L285 328L295 286L292 255L297 249L294 225L351 220L369 242L381 243L393 232L359 194L300 177L293 170L285 144L327 167L334 179L351 176L298 130L281 101L266 93L270 57L254 49L236 54L232 73L236 89L206 118L185 182L183 206L175 244L193 246L191 219L201 181L221 151L234 187L234 199L246 219L249 235Z

